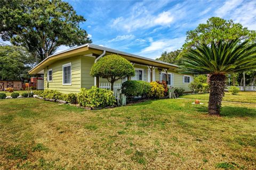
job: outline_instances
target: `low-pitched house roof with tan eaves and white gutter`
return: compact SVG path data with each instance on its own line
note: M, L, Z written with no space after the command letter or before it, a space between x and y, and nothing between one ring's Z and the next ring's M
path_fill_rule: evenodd
M118 54L118 55L121 55L122 57L126 58L127 60L134 62L134 63L138 63L138 64L156 66L156 67L161 67L161 68L165 68L165 69L176 69L177 67L179 67L178 65L175 65L175 64L170 64L170 63L166 63L166 62L162 62L162 61L153 60L151 58L122 52L122 51L119 51L116 49L102 47L102 46L98 46L98 45L94 45L94 44L85 44L82 46L63 50L62 52L55 53L53 55L48 56L42 62L37 64L33 69L31 69L28 73L29 74L37 74L38 72L41 72L46 66L54 63L55 61L58 61L58 60L61 60L64 58L69 58L69 57L74 57L74 56L79 56L79 55L89 55L89 54L93 54L93 56L99 56L100 54L103 53L104 50L106 50L106 55L112 54L112 53Z

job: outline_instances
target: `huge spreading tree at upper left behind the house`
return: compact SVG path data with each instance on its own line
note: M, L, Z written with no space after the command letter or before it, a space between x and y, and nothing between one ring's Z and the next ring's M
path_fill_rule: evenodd
M13 45L23 46L38 62L61 46L91 43L79 23L86 21L61 0L0 1L0 36Z

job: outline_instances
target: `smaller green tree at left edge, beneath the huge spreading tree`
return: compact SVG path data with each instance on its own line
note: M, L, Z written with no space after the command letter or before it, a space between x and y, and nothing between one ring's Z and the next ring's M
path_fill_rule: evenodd
M0 46L0 80L28 79L34 62L34 57L21 47Z

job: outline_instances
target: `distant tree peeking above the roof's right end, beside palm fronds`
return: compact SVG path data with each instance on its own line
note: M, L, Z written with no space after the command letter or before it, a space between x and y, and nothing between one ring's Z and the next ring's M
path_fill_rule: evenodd
M171 64L179 64L179 54L181 53L180 49L177 49L173 52L164 52L162 53L161 57L156 58L158 61L166 62L166 63L171 63Z

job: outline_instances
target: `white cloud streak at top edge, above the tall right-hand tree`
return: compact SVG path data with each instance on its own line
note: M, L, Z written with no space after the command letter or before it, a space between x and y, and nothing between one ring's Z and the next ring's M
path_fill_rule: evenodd
M224 5L222 5L217 11L215 11L215 13L217 14L217 16L219 17L223 17L226 14L228 14L229 12L234 12L235 8L238 7L239 5L242 4L242 0L229 0L226 1Z

